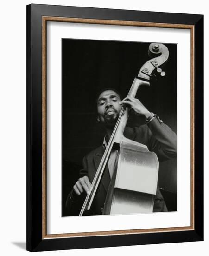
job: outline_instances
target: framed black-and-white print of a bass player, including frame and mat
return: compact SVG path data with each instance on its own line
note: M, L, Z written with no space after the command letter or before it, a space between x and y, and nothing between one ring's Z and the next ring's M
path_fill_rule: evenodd
M203 15L27 6L27 250L203 240Z

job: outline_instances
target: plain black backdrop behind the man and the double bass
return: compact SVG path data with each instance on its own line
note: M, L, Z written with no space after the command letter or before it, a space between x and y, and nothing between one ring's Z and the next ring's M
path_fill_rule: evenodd
M140 67L149 60L150 43L62 40L62 216L65 201L78 179L82 158L101 145L105 131L96 121L96 96L103 88L127 96ZM141 87L137 98L177 133L177 45L165 44L169 59L165 77ZM131 115L127 126L144 124ZM177 210L177 160L160 163L159 186L168 210Z

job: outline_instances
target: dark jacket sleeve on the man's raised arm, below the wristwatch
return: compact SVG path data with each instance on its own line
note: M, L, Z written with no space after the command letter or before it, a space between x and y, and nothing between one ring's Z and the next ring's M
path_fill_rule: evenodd
M177 157L177 135L157 117L148 124L148 148L158 156L159 161Z

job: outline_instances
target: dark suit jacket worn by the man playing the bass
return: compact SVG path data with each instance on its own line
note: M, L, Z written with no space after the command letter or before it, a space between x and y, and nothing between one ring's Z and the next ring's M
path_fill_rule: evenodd
M159 161L165 161L177 157L177 136L166 124L161 123L158 118L154 118L147 125L125 129L125 137L133 141L140 142L148 147L158 156ZM96 170L100 164L101 157L105 151L103 145L91 151L83 158L83 169L80 171L80 177L87 175L92 182ZM108 166L104 171L101 185L95 195L89 215L101 215L104 207L105 198L108 191L110 176ZM84 194L84 193L83 193ZM76 196L73 191L68 195L66 207L70 215L77 215L82 207L84 196ZM154 202L154 212L167 211L163 196L157 187L157 193Z

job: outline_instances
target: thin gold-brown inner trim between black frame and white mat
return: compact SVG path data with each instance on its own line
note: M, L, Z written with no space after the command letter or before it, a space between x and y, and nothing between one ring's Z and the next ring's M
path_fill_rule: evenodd
M81 232L81 233L66 233L66 234L50 234L46 232L46 36L47 36L47 21L55 22L73 22L73 23L89 23L102 25L121 25L121 26L137 26L137 27L164 27L164 28L178 28L190 29L190 45L191 45L191 124L190 124L190 140L191 140L191 223L187 227L170 227L170 228L156 228L156 229L129 229L129 230L114 230L114 231L96 231L96 232ZM170 24L170 23L152 23L152 22L138 22L125 20L98 20L98 19L83 19L83 18L66 18L66 17L42 17L42 239L62 238L62 237L79 237L79 236L107 236L107 235L127 235L127 234L143 234L143 233L157 233L157 232L171 232L171 231L188 231L194 230L194 33L193 25L185 24Z

